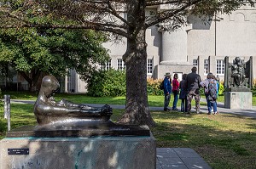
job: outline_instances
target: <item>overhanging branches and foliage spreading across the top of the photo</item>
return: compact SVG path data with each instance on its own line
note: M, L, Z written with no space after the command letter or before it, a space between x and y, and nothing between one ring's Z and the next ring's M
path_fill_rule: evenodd
M134 23L140 17L131 22L124 18L124 14L141 15L143 23L137 25L140 29L163 24L166 31L173 31L186 24L183 17L188 14L230 14L247 2L253 4L253 0L1 0L0 17L3 20L0 23L1 27L96 29L129 38L132 36L127 34L129 27L136 26ZM158 7L162 9L145 16L146 8Z

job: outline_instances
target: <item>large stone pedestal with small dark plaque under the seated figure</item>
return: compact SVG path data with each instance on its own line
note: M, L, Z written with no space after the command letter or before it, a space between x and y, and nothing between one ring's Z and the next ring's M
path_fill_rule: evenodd
M0 169L154 169L156 161L152 134L4 138L0 151Z

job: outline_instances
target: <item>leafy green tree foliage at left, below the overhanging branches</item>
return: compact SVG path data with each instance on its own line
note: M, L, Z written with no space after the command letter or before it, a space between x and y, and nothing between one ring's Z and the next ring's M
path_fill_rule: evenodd
M75 69L86 79L108 59L101 33L85 30L12 28L0 31L0 63L11 65L32 85L40 72L55 76ZM32 73L30 77L29 74Z

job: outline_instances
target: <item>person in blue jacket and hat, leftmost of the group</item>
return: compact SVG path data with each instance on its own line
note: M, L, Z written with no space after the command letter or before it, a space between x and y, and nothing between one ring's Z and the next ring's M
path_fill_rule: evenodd
M164 79L164 93L165 93L164 110L165 111L171 110L168 108L168 105L170 104L171 93L172 93L172 82L170 81L170 79L171 79L171 73L167 72L165 74L165 79Z

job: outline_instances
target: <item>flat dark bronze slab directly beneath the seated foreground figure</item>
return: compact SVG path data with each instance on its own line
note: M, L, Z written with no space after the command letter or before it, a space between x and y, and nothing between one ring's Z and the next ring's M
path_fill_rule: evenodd
M67 125L67 123L65 123ZM95 137L95 136L150 136L148 126L120 125L112 121L71 122L43 126L23 126L7 132L8 138L19 137Z

